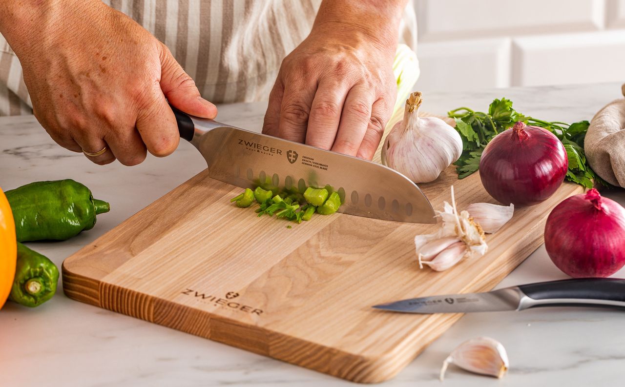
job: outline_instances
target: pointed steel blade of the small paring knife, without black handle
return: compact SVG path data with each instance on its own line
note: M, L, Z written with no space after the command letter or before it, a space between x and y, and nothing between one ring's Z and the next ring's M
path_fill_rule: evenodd
M376 309L402 313L467 313L474 311L517 310L526 297L518 287L487 293L467 293L410 298L387 304L374 305Z

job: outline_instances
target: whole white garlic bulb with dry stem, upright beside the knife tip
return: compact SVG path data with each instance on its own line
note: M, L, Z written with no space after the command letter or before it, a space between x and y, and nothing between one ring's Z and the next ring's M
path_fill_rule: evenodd
M441 174L462 153L456 129L436 117L419 117L421 93L406 101L404 120L397 122L382 146L382 164L415 183L427 183Z

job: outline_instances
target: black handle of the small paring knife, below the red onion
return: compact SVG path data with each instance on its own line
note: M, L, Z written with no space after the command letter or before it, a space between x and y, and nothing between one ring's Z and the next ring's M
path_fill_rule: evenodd
M625 280L618 278L576 278L519 285L537 306L599 306L625 310Z

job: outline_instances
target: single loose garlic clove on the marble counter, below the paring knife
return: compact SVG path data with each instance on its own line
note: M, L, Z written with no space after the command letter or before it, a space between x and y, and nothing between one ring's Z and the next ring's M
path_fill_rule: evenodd
M441 381L449 363L463 370L497 378L504 376L509 367L506 348L489 337L473 338L457 346L442 363Z

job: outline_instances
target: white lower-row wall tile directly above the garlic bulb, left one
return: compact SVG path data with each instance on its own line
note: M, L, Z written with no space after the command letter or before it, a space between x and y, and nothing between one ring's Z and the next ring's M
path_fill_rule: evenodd
M419 44L417 55L420 91L463 91L510 83L510 39L426 42Z

